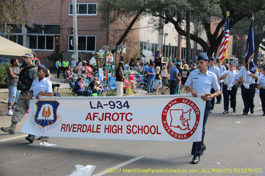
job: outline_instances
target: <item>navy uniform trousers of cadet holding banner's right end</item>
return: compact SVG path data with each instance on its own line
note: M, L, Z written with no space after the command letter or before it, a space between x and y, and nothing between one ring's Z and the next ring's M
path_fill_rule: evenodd
M210 100L206 101L204 115L203 115L203 131L202 131L201 141L193 142L193 145L191 148L191 155L201 156L201 150L203 147L203 139L205 135L205 125L206 125L208 116L210 114L211 107L212 107L211 101Z

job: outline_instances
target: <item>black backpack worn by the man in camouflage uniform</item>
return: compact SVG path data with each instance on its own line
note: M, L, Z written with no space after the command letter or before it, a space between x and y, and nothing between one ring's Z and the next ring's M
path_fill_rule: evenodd
M30 67L27 67L21 70L21 72L19 73L19 82L16 87L17 90L26 91L30 89L33 79L29 78L28 70L33 67L37 67L37 66L34 65L34 66L30 66Z

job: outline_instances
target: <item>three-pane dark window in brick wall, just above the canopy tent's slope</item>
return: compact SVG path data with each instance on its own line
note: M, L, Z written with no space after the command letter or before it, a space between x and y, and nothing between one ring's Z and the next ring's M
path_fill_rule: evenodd
M54 36L29 35L29 48L36 50L54 50Z

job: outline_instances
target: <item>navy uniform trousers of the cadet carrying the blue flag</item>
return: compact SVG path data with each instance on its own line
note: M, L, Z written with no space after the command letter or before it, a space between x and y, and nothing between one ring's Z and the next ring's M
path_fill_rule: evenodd
M242 84L241 86L241 96L244 102L244 113L248 113L249 109L254 109L254 97L256 92L255 84L250 84L249 89L246 89L245 86Z

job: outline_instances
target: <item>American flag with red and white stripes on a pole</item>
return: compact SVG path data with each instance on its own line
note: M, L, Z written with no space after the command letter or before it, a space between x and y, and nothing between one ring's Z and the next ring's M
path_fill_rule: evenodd
M222 43L219 53L220 62L223 62L223 60L225 60L226 58L226 50L228 48L228 44L229 44L229 15L226 16L226 26L223 30Z

